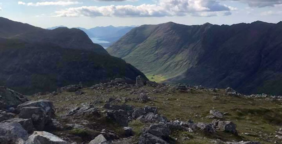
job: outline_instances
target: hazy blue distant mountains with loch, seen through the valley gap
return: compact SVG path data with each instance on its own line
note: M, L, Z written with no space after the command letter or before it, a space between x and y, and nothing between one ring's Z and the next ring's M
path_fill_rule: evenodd
M66 26L56 26L52 28L47 28L47 29L56 29L56 28L61 28ZM98 43L101 44L104 48L109 47L111 44L116 42L118 39L120 39L123 35L128 33L132 28L136 26L120 26L120 27L114 27L112 25L107 26L107 27L95 27L95 28L80 28L77 27L78 29L81 29L84 31L90 38L97 38L100 41L105 41L108 43ZM93 39L92 39L93 40ZM93 41L95 42L95 41ZM99 41L97 41L99 42Z

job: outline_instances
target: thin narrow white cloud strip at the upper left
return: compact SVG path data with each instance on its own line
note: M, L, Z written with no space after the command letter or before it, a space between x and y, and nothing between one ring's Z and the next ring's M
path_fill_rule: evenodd
M72 5L72 4L81 4L81 2L77 1L55 1L55 2L37 2L37 3L24 3L19 1L19 5L27 5L27 6L49 6L49 5L60 5L60 6L66 6L66 5Z

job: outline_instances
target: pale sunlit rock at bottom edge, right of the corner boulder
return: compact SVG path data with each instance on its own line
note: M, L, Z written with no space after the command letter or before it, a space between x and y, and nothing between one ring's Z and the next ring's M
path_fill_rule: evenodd
M69 142L46 131L34 131L25 144L69 144Z

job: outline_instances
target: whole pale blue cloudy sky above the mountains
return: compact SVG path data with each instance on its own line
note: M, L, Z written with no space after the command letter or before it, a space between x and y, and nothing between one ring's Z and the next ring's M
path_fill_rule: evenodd
M49 28L282 21L282 0L0 0L0 17Z

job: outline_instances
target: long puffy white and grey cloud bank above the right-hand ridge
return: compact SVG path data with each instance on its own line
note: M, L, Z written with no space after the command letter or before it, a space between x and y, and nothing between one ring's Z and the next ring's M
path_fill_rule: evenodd
M83 6L77 8L66 8L56 11L55 17L163 17L163 16L184 16L192 14L199 16L213 16L212 12L230 11L232 7L221 5L215 0L159 0L158 4L133 5L109 5L109 6ZM232 8L235 9L235 8ZM209 14L210 12L210 14Z

